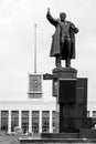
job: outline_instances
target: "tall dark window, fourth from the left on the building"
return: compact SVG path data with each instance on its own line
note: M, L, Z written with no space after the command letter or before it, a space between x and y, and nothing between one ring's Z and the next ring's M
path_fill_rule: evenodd
M40 120L40 112L39 111L32 111L32 132L39 133L39 120Z

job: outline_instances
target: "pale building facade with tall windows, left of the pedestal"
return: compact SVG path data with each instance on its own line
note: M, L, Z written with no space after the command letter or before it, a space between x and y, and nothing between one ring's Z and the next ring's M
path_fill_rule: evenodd
M44 101L1 101L0 131L23 133L52 133L55 128L55 103Z

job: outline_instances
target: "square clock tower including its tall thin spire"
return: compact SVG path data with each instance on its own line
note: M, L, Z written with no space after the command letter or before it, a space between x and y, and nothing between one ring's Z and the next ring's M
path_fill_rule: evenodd
M29 99L42 99L43 74L36 73L36 24L34 24L34 73L29 73Z

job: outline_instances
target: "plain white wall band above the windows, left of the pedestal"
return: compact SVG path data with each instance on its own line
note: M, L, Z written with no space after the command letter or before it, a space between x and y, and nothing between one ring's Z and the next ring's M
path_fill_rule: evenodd
M51 102L33 102L33 101L1 101L0 102L0 110L35 110L35 111L40 111L40 110L53 110L55 111L55 102L51 101Z

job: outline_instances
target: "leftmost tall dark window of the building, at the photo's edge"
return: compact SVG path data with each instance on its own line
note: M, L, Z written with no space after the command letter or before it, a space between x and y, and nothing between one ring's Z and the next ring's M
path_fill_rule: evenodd
M9 112L1 111L1 131L2 132L8 132L8 117L9 117Z

